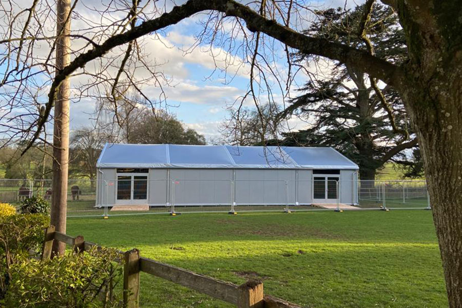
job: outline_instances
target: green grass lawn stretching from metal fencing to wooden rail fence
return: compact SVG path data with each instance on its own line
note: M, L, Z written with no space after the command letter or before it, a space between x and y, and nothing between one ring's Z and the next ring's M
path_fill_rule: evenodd
M306 307L447 306L430 211L69 218L68 234ZM142 307L230 305L142 273Z

